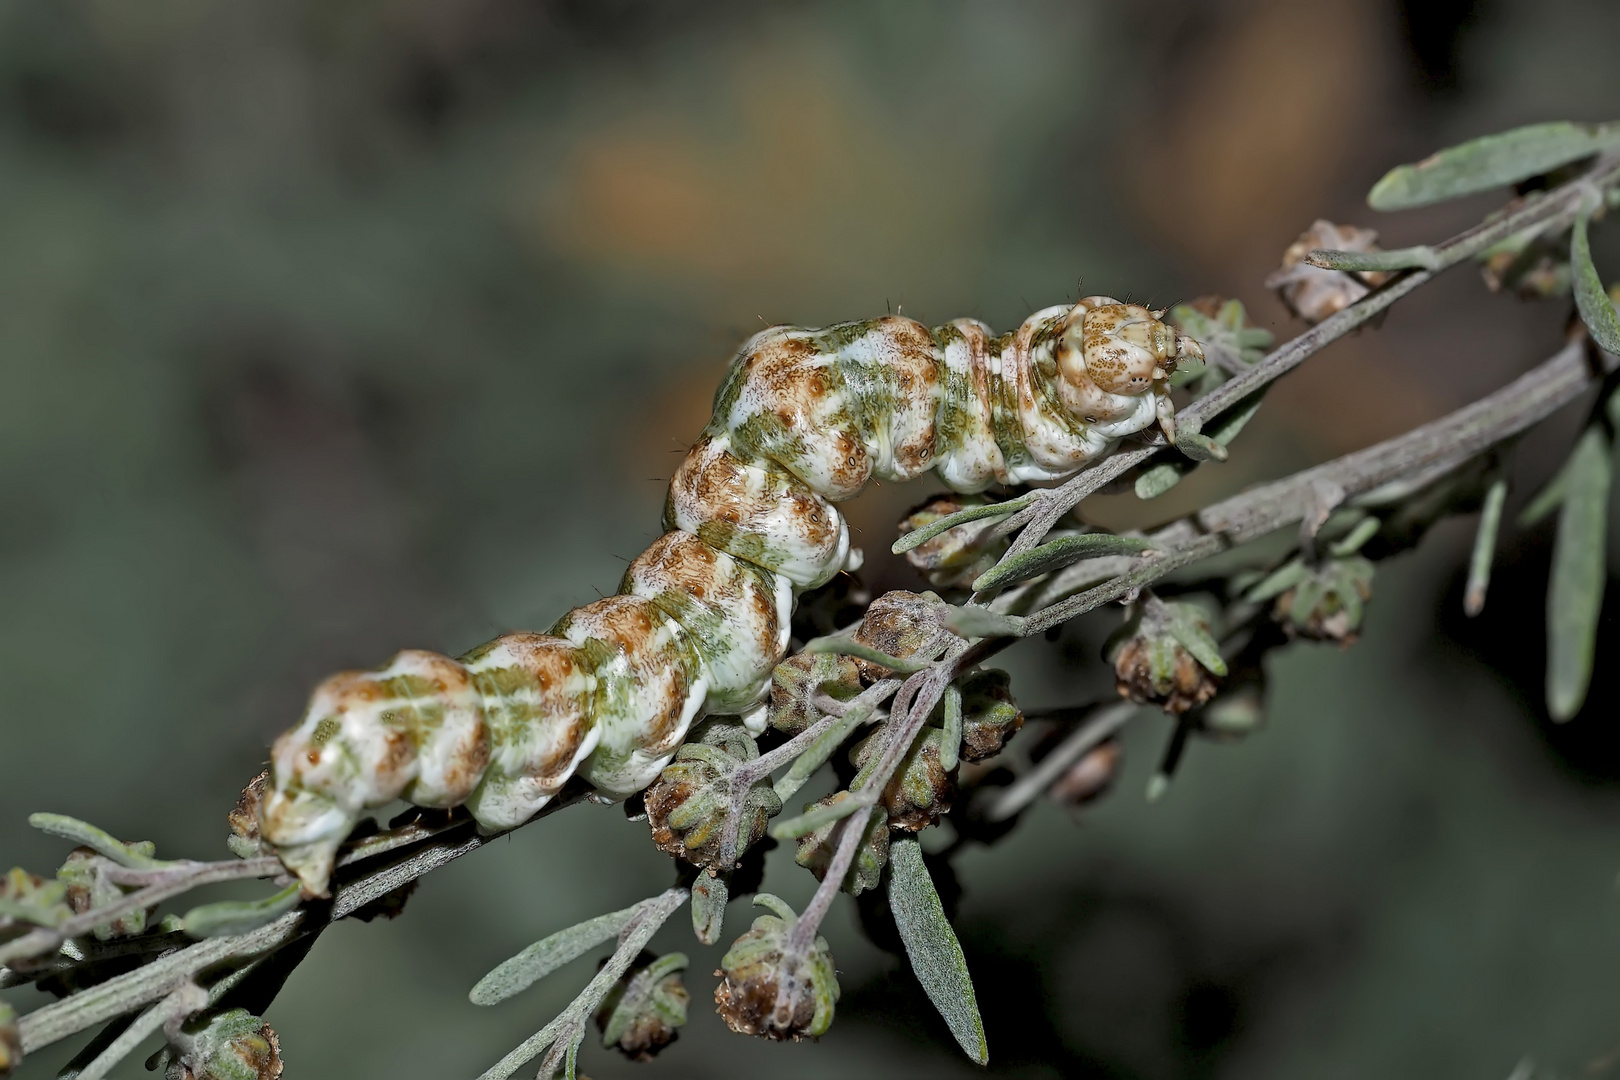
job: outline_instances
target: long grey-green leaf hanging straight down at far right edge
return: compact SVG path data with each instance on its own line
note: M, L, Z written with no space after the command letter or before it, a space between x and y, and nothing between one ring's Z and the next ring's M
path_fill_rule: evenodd
M1592 678L1597 615L1604 606L1604 533L1609 525L1609 439L1588 427L1570 455L1547 586L1547 711L1568 721Z

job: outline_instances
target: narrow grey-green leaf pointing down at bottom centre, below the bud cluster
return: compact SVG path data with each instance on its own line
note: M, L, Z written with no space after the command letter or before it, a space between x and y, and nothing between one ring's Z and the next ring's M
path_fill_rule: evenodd
M978 1018L967 959L928 878L922 845L910 837L889 845L889 910L928 1001L944 1017L962 1051L983 1065L990 1061L990 1048L985 1046L985 1023Z

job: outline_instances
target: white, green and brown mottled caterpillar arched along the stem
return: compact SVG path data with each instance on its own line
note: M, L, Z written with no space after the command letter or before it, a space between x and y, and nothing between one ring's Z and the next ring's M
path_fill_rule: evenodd
M575 774L646 787L705 716L761 732L797 594L859 559L834 504L928 470L957 492L1058 481L1155 423L1173 439L1168 379L1202 351L1162 314L1087 296L1001 337L897 316L761 330L619 593L544 635L327 678L271 751L261 837L321 895L366 808L465 805L509 829Z

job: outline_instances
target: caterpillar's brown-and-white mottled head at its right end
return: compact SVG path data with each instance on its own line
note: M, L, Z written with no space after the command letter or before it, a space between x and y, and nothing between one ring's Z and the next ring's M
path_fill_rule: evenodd
M1170 376L1179 359L1204 359L1199 343L1162 321L1163 311L1087 296L1074 304L1058 342L1058 368L1077 398L1105 393L1157 398L1165 436L1174 440Z

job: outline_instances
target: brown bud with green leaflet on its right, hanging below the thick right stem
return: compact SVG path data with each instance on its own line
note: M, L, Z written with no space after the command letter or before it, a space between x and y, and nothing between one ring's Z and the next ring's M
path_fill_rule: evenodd
M1197 604L1157 597L1149 597L1118 631L1110 659L1121 698L1155 703L1173 714L1213 698L1218 677L1226 674L1209 614Z

